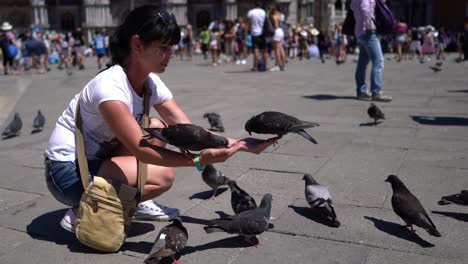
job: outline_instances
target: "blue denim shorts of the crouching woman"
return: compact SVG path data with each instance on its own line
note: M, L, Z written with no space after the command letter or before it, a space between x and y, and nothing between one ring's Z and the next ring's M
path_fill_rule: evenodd
M102 160L88 160L89 172L96 175ZM78 207L84 192L77 161L56 161L46 158L45 178L47 188L54 198L71 207Z

